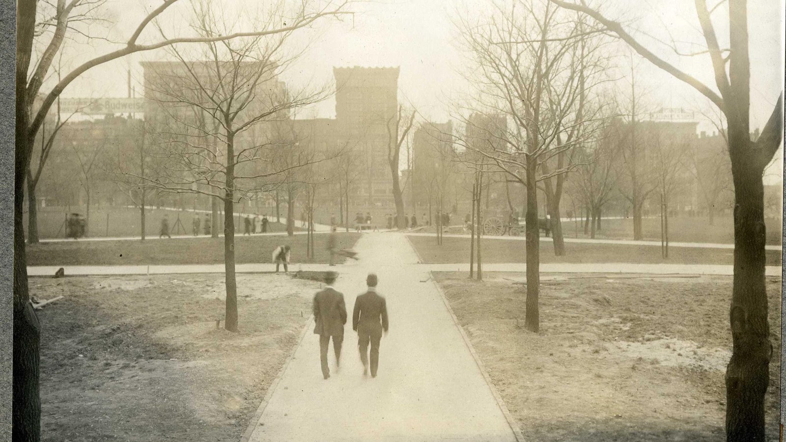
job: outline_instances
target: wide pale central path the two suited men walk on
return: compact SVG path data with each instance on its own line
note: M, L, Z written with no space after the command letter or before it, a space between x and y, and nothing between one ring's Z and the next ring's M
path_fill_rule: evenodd
M401 265L417 263L406 238L363 235L356 249L362 260L338 267L335 284L350 315L340 372L331 363L322 379L312 319L248 440L516 440L435 285L421 282L428 267ZM391 324L377 378L362 377L351 329L368 271L379 276Z

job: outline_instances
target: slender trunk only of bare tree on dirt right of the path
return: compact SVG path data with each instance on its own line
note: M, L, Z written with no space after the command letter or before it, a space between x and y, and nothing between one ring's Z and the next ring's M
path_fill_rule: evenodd
M540 228L538 227L537 162L527 158L527 215L525 220L527 247L527 308L524 326L531 332L540 330L538 294L540 292Z

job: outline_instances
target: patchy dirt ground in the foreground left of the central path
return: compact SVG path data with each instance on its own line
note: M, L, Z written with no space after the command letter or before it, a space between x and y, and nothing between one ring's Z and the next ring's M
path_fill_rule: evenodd
M236 442L319 287L237 275L240 332L230 333L215 327L222 275L30 281L32 296L64 296L39 311L42 440L52 442Z

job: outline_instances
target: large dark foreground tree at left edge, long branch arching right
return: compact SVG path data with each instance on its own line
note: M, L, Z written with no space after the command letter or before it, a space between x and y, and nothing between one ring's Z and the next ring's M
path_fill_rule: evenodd
M156 50L178 43L222 42L242 36L276 35L281 32L295 31L306 28L323 17L338 17L344 13L348 1L338 4L321 3L314 8L309 2L301 3L297 13L291 15L292 20L276 28L241 30L227 35L203 37L199 35L183 35L174 38L153 39L145 42L142 34L149 24L162 16L178 0L164 0L138 23L130 38L119 44L117 49L101 53L96 57L72 68L61 77L48 91L42 90L44 81L52 68L52 61L63 48L65 33L69 23L77 17L76 6L88 3L88 0L58 0L55 14L47 20L51 33L42 32L39 27L37 9L39 0L17 0L17 63L15 92L15 139L14 139L14 265L13 265L13 420L14 440L37 441L40 439L40 397L39 397L39 341L40 328L35 312L32 310L28 292L27 258L24 244L24 180L28 173L30 161L35 147L35 138L42 127L46 115L50 112L57 97L75 79L84 72L98 65L105 64L131 53ZM95 4L95 2L90 2ZM39 57L35 57L35 48L45 49ZM43 97L40 104L35 98Z

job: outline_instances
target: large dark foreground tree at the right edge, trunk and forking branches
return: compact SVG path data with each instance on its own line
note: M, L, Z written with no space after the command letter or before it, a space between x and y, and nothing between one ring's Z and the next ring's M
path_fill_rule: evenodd
M750 136L751 62L748 54L747 0L729 0L729 47L722 48L705 0L694 0L715 79L713 89L643 46L623 25L586 4L550 0L592 17L657 68L698 90L726 119L734 184L734 283L729 309L733 352L726 368L726 439L765 440L764 396L769 385L769 341L765 283L764 183L762 174L783 139L783 92L761 136ZM717 90L717 92L716 92Z

